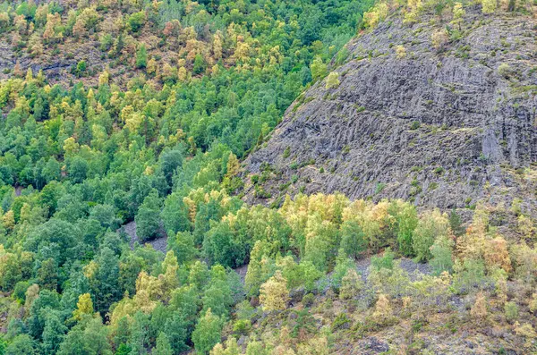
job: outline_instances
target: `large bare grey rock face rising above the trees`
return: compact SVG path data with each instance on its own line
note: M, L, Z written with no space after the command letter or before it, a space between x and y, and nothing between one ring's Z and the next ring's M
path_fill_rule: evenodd
M337 88L315 84L246 160L262 173L246 199L302 188L450 208L528 192L515 172L537 160L537 21L471 9L462 38L437 51L446 21L388 20L347 45Z

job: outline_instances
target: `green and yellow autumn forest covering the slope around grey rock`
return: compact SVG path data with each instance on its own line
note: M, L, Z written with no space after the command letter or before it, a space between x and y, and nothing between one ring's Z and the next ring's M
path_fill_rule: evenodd
M401 199L242 199L246 180L266 198L256 183L275 173L242 159L312 83L337 86L345 43L435 4L0 3L0 42L19 58L0 81L0 355L324 355L438 314L449 332L508 325L534 351L520 202L513 242L485 205L465 223ZM72 65L48 77L56 56ZM161 238L165 252L146 243Z

